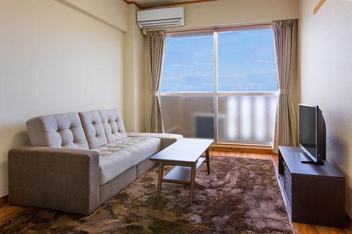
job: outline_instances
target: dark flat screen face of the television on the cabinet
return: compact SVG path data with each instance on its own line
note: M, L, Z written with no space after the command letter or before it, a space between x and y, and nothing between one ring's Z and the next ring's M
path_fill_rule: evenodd
M317 109L299 105L299 144L317 158Z

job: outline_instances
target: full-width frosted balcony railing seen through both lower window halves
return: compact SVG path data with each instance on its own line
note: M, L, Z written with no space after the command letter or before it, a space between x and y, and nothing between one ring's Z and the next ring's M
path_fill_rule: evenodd
M162 93L165 132L219 143L272 143L277 92L212 94Z

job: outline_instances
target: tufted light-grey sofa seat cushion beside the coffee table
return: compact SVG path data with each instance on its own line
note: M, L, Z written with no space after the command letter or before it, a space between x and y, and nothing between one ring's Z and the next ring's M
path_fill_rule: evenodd
M113 180L127 169L136 166L161 149L159 138L128 137L99 148L100 186Z

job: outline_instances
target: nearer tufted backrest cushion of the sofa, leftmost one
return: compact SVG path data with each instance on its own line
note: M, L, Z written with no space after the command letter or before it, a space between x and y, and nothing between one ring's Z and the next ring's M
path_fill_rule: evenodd
M34 117L26 125L32 146L88 149L77 112Z

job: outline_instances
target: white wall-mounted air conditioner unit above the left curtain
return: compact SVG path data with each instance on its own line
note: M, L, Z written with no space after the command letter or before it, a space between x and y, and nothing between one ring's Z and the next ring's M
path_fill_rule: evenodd
M184 25L184 8L137 11L137 23L140 28L182 26Z

